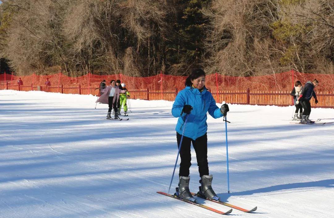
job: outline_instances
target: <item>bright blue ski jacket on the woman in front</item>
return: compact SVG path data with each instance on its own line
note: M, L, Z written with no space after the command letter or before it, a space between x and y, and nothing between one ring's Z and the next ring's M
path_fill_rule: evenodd
M177 94L172 107L173 116L179 118L175 127L179 134L183 132L183 124L187 115L182 113L183 106L186 104L191 105L193 109L188 115L184 136L193 140L204 135L207 131L206 112L209 112L213 118L223 116L216 105L216 101L205 87L200 92L198 89L187 86Z

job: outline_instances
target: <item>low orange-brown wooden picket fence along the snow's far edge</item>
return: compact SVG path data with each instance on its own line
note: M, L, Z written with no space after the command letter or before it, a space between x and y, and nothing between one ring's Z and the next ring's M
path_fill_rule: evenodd
M98 86L19 86L17 84L0 84L0 89L11 89L18 91L45 91L58 92L63 94L80 94L80 95L96 95L100 94L100 87ZM179 90L150 90L150 89L129 89L131 99L144 100L167 100L174 101ZM211 92L217 103L225 101L230 104L248 104L248 105L276 105L289 106L293 105L293 98L290 91L256 91L252 92L249 89L244 91L218 91ZM334 108L334 92L323 91L316 92L318 97L318 104L311 100L311 106L321 108Z

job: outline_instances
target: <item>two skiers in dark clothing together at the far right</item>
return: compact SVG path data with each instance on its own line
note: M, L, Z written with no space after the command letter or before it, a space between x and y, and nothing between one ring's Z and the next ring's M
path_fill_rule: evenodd
M303 87L300 81L296 81L295 86L291 91L291 95L294 98L296 107L293 120L300 120L300 122L304 124L314 123L314 121L310 120L310 113L311 113L310 100L313 96L313 98L315 99L315 103L318 104L317 95L314 92L314 88L318 86L318 84L319 84L318 80L314 79L312 82L308 81Z

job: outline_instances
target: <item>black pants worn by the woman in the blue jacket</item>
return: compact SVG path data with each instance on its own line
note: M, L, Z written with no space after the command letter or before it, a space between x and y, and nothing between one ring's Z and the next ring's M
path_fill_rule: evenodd
M180 146L181 137L182 135L176 132L176 139L178 146ZM179 177L189 176L189 168L191 166L191 153L190 153L191 143L196 152L199 176L202 177L203 175L209 175L209 166L207 160L208 158L207 140L208 138L206 133L196 138L196 140L183 136L182 145L180 149L181 163L180 163Z

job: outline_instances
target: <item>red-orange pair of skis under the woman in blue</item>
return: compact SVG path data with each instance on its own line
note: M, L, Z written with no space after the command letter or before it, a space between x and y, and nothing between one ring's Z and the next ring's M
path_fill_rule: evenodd
M166 196L169 196L169 197L172 197L172 198L175 198L175 199L180 200L180 201L187 202L187 203L192 204L192 205L196 205L196 206L198 206L198 207L207 209L207 210L209 210L209 211L212 211L212 212L215 212L215 213L218 213L218 214L229 214L229 213L232 212L232 209L230 209L230 210L228 210L228 211L226 211L226 212L222 212L222 211L216 210L216 209L214 209L214 208L208 207L208 206L206 206L206 205L204 205L204 204L200 204L200 203L197 203L197 202L184 200L184 199L179 198L179 197L177 197L177 196L175 196L175 195L170 195L170 194L167 194L167 193L164 193L164 192L157 192L157 193L162 194L162 195L166 195ZM240 211L243 211L243 212L246 212L246 213L253 212L253 211L256 211L256 210L258 209L258 207L255 207L255 208L253 208L252 210L246 210L246 209L243 209L243 208L241 208L241 207L237 207L237 206L234 206L234 205L232 205L232 204L228 204L228 203L223 202L223 201L220 201L220 200L219 200L219 201L216 201L216 200L212 200L212 199L209 199L209 198L205 198L205 197L203 197L203 196L201 196L201 195L198 195L198 194L195 194L195 193L191 193L191 194L192 194L193 196L197 196L197 197L199 197L199 198L203 198L203 199L205 199L205 200L209 200L209 201L212 201L212 202L221 204L221 205L225 205L225 206L227 206L227 207L231 207L231 208L234 208L234 209L236 209L236 210L240 210Z

